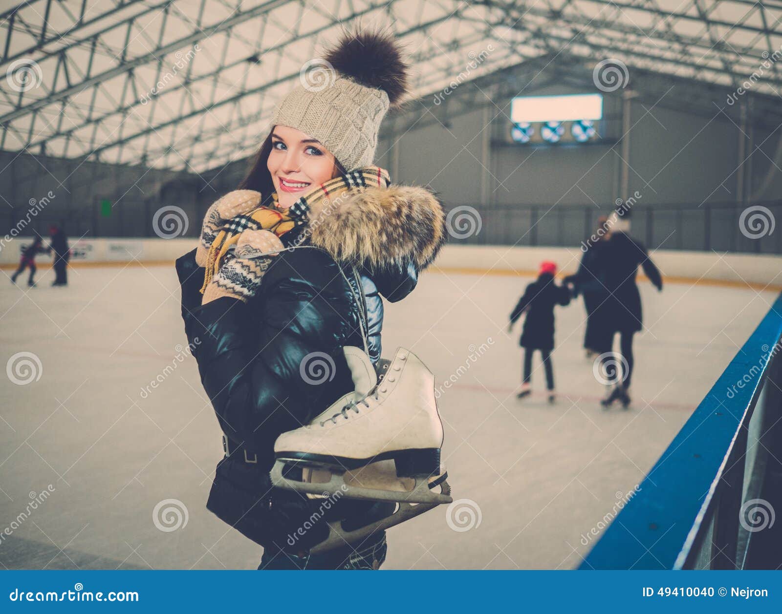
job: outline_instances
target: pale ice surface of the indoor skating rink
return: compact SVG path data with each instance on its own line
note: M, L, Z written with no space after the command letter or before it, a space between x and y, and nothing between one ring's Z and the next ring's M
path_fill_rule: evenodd
M254 569L261 548L204 507L221 434L183 348L173 266L70 270L66 288L41 273L27 293L2 275L3 361L31 352L40 366L28 384L0 378L0 564ZM402 345L439 386L453 381L439 398L443 454L454 499L468 500L390 530L386 569L577 566L592 530L651 468L776 295L690 284L658 294L640 284L647 330L636 337L633 405L601 411L580 299L557 312L557 404L542 395L539 360L536 394L515 398L520 327L506 328L530 280L424 273L404 302L386 304L383 355ZM160 530L171 527L153 516L167 499L182 503L182 518L169 519L176 530Z

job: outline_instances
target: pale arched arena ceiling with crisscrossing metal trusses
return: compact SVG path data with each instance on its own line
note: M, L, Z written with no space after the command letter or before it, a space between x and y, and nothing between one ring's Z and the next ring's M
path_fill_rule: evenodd
M424 123L518 93L504 81L511 66L528 80L583 82L604 59L624 62L647 95L698 81L677 90L681 108L751 80L755 112L780 116L779 0L29 0L0 14L0 148L222 166L253 152L301 67L356 20L390 23L406 44ZM465 88L431 111L426 97L454 79L472 81L475 98Z

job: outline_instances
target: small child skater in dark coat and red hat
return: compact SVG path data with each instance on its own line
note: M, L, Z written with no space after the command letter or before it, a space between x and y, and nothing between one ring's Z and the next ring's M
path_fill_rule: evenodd
M540 350L540 354L543 356L543 367L546 369L548 402L556 401L554 368L551 365L551 351L554 349L554 305L568 305L571 295L568 287L561 286L554 280L556 273L556 263L541 262L538 278L526 287L524 295L518 299L518 303L511 312L511 323L508 324L509 333L516 320L526 312L522 337L518 340L518 344L524 348L524 380L521 391L516 395L517 398L524 398L532 394L530 382L532 380L533 352Z

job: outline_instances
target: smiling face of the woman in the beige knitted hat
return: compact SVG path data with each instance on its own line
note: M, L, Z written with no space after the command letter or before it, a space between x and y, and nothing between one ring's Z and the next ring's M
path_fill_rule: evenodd
M320 141L288 126L275 126L267 166L278 205L289 209L317 185L336 177L336 160Z

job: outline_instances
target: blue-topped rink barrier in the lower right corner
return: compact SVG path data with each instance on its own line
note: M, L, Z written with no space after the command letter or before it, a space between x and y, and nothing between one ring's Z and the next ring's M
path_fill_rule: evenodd
M579 569L735 569L748 561L774 568L782 563L779 544L764 548L764 542L780 539L780 525L769 526L764 535L741 522L747 499L767 506L766 524L773 525L775 505L782 514L780 335L782 294ZM760 434L752 435L748 448L753 415L753 431ZM748 467L748 452L755 454L755 448L768 462ZM752 476L752 470L764 473ZM750 485L762 499L748 494Z

